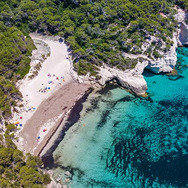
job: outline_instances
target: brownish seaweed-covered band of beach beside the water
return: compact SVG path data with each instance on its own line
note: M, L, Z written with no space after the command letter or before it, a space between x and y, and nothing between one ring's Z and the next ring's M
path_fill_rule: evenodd
M60 122L74 107L75 102L84 95L90 85L69 83L44 100L33 116L19 133L18 146L24 153L39 155L51 136L56 132ZM47 127L47 125L49 125ZM41 128L47 127L43 132ZM43 136L41 136L43 134ZM41 138L38 139L37 137Z

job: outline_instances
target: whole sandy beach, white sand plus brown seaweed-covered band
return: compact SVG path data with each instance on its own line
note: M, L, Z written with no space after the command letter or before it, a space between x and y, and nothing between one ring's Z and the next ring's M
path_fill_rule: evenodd
M38 155L56 131L59 122L90 85L74 82L70 73L67 46L58 37L40 36L36 33L30 36L35 44L42 42L43 46L33 51L30 73L17 83L23 101L16 108L10 122L17 126L15 135L18 138L18 148L24 153ZM48 57L41 63L38 75L30 79L32 69L41 61L38 56L43 48Z

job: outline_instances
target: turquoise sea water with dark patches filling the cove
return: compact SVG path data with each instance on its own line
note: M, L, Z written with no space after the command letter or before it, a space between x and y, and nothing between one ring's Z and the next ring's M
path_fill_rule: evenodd
M107 86L90 94L53 153L72 188L188 187L188 49L177 76L144 72L148 98ZM108 88L109 87L109 88Z

